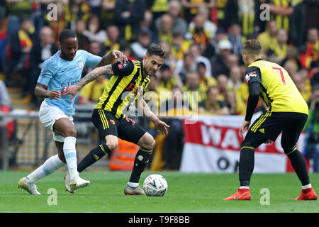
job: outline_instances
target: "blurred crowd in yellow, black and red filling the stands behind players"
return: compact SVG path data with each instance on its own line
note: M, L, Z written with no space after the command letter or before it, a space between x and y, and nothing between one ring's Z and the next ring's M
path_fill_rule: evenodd
M56 8L48 7L52 3ZM52 9L57 20L50 19ZM266 20L264 9L270 12ZM94 55L121 50L129 60L142 60L148 45L159 44L170 60L151 77L150 91L198 92L191 99L199 114L245 115L249 92L241 48L257 38L264 59L289 72L310 106L319 83L318 15L317 0L0 0L0 72L7 87L22 87L37 104L33 90L41 65L58 50L58 34L71 28L79 49ZM79 104L96 103L107 82L101 77L88 84ZM264 109L260 102L258 110ZM313 118L312 133L318 134L318 116ZM182 127L170 123L167 149L178 156L181 144L172 145L181 141ZM167 168L178 168L172 162Z

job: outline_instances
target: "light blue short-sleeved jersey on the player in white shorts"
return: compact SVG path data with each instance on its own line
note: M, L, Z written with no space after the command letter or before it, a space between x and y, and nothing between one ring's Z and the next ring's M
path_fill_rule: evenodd
M60 51L43 62L38 78L38 83L47 86L48 91L62 92L64 87L77 84L81 79L84 65L96 67L101 62L101 57L92 55L86 50L77 50L73 60L67 61L60 57ZM73 104L76 97L69 101L70 96L70 94L61 96L59 100L46 98L45 102L50 106L57 106L67 115L73 115L75 111Z

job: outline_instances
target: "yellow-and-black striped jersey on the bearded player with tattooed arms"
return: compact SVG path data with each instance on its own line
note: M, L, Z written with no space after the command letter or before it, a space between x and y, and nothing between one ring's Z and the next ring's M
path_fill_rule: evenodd
M95 109L110 111L116 118L125 118L123 111L145 92L150 76L144 75L141 61L129 60L126 64L112 65L113 76L103 90Z

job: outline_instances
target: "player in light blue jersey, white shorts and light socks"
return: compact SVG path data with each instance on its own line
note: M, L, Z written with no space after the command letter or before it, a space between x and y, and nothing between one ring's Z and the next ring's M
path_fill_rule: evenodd
M40 121L52 130L57 147L57 155L47 159L43 165L27 177L18 181L18 187L30 194L40 194L35 185L39 179L50 175L67 163L70 185L75 192L90 182L79 177L77 172L77 131L74 128L74 99L61 96L62 89L79 82L84 66L100 67L116 60L126 62L127 58L118 50L113 50L103 57L92 55L85 50L77 50L77 35L72 30L64 30L59 36L61 50L43 62L43 67L35 87L35 95L44 98L39 110Z

